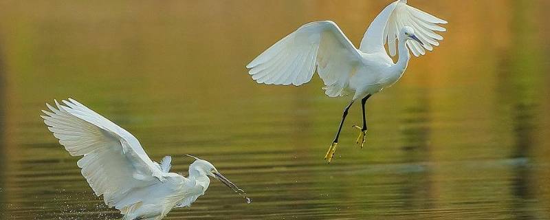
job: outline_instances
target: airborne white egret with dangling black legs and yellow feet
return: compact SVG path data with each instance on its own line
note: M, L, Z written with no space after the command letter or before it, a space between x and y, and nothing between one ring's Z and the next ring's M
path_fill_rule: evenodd
M344 109L338 132L325 159L331 162L336 151L338 137L349 107L361 99L363 126L357 144L363 147L366 135L365 103L373 94L390 87L401 78L410 59L433 50L443 37L435 31L444 32L438 24L447 21L407 5L398 0L388 5L371 23L361 41L359 50L344 35L333 21L307 23L281 39L246 67L252 79L267 85L303 85L311 80L317 70L325 83L329 97L353 94ZM388 51L395 56L396 41L399 58L394 63Z

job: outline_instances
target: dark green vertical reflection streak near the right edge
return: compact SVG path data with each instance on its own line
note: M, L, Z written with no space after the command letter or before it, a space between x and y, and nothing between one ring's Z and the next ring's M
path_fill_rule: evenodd
M527 32L531 30L532 25L529 24L529 13L533 11L532 6L525 3L514 3L518 10L514 10L513 17L513 30L514 32ZM527 22L527 23L526 23ZM513 212L516 219L539 219L542 216L533 210L533 206L538 206L537 203L533 203L536 197L533 195L533 185L536 179L533 178L532 165L533 159L531 155L533 153L533 146L536 143L533 142L534 126L537 120L536 109L538 109L538 100L536 95L533 94L533 87L537 87L536 81L531 78L525 72L531 72L529 69L536 63L536 53L534 45L529 43L532 38L532 34L516 35L511 41L514 43L526 43L527 45L521 50L512 47L510 50L505 51L506 61L503 62L503 74L499 82L504 91L503 94L507 94L506 97L501 97L507 102L511 102L511 115L512 118L512 131L514 131L514 149L511 151L511 158L526 158L527 164L525 166L514 167L514 176L511 177L511 192L514 194L514 199L511 201L511 212ZM527 57L531 58L527 58ZM511 71L509 70L511 69ZM535 69L531 69L535 70ZM536 74L533 71L532 74ZM506 89L504 89L506 88Z

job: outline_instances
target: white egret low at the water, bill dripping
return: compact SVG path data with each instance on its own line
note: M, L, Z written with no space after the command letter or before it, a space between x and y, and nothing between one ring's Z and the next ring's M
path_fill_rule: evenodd
M59 143L78 160L82 175L105 204L124 214L124 220L162 219L173 208L190 206L203 195L210 177L235 192L243 192L206 160L194 156L189 175L170 173L170 156L153 162L128 131L69 98L65 105L46 104L41 115ZM247 198L248 199L248 198Z

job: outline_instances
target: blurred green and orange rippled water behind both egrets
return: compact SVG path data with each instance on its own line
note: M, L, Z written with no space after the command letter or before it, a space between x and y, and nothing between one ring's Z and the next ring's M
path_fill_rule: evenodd
M245 65L315 20L355 45L391 1L0 0L0 219L116 219L43 124L75 98L133 133L152 159L208 159L212 181L166 219L550 219L546 0L410 0L449 21L434 52L352 107L349 98L254 83Z

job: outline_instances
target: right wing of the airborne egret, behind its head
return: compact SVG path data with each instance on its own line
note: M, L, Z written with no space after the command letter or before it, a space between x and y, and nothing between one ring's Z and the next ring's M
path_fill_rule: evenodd
M447 21L407 5L406 0L397 0L374 19L365 32L359 50L365 53L382 52L385 51L384 44L388 43L390 55L395 56L399 32L404 26L410 26L423 46L416 41L408 41L407 46L415 56L424 55L425 49L432 51L432 45L438 46L438 41L443 40L443 36L435 32L445 32L445 28L438 25L445 23Z

